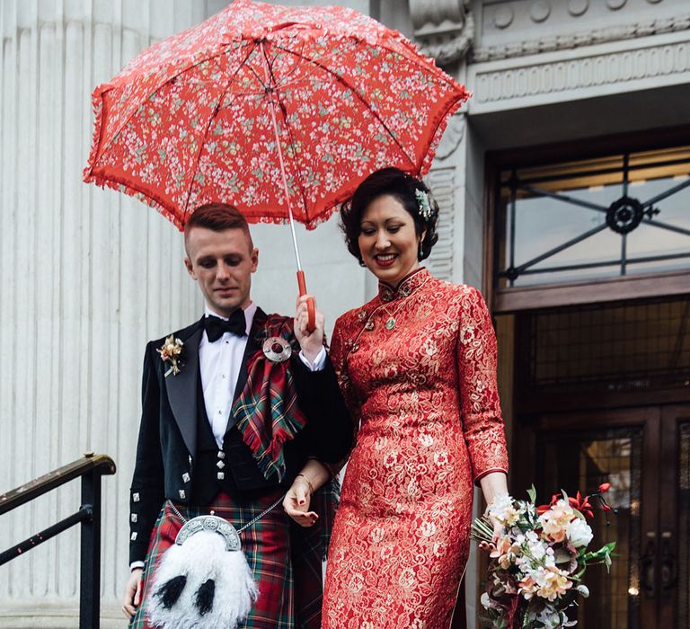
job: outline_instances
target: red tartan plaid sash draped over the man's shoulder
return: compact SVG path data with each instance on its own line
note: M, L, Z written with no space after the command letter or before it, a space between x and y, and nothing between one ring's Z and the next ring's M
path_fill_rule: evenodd
M280 482L286 469L283 444L305 427L306 418L297 405L290 361L273 362L263 353L263 341L273 336L285 339L293 351L299 351L291 318L257 312L250 342L257 344L258 350L248 359L247 382L235 400L233 413L261 474L267 480L277 474Z

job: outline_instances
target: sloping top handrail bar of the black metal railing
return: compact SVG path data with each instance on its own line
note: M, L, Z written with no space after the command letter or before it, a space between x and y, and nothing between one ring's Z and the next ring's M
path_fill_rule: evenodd
M115 474L117 468L110 456L86 452L83 458L78 458L72 463L58 467L57 470L43 474L9 492L0 493L0 516L96 469L105 476Z

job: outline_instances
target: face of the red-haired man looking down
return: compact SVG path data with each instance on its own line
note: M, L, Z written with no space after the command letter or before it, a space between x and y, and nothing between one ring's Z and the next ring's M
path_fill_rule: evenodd
M186 239L184 265L199 288L208 307L222 316L251 302L252 273L259 263L259 250L243 229L215 232L192 227Z

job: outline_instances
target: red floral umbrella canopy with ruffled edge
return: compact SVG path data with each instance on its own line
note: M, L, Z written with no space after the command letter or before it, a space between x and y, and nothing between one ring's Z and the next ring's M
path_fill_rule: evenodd
M314 227L378 168L426 173L467 96L353 10L236 0L95 89L84 180L137 195L180 228L218 200L282 222L278 137L293 213Z

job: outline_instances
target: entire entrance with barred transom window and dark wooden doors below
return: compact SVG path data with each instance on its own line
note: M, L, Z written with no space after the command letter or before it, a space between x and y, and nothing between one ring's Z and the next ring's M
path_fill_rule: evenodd
M583 629L690 629L688 131L487 156L511 488L611 483L617 509L593 521L617 556L588 572Z

